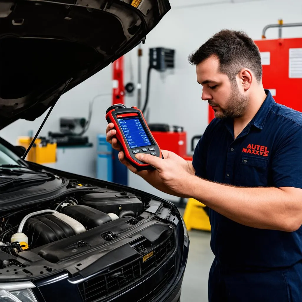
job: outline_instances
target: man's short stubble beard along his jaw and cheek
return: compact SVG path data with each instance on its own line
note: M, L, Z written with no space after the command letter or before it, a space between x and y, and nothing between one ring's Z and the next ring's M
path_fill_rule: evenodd
M239 92L236 83L232 84L232 91L226 101L225 108L214 113L215 117L220 119L241 117L248 108L249 99Z

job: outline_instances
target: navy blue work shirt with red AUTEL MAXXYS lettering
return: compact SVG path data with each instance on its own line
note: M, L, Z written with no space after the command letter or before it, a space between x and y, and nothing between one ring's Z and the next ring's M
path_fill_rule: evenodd
M196 175L242 187L302 188L302 113L265 93L261 108L235 140L232 119L211 121L194 152ZM209 216L211 249L222 265L272 268L302 260L302 227L295 232L263 230L211 209Z

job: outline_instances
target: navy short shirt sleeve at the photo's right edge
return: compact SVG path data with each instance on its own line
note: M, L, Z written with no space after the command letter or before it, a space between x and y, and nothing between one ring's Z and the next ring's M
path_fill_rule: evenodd
M272 156L272 181L277 188L302 188L302 127L288 129Z

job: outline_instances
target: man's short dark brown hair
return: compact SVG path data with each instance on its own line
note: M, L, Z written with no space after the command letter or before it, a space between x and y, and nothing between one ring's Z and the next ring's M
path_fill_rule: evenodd
M257 82L261 81L259 48L246 33L231 30L218 32L189 56L189 62L197 65L212 55L218 56L220 72L225 73L231 82L243 68L250 69L255 74Z

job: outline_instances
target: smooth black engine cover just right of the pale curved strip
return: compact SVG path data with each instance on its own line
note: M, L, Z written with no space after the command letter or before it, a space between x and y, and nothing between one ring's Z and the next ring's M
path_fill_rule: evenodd
M62 212L82 223L87 230L111 221L109 215L85 205L64 207Z

